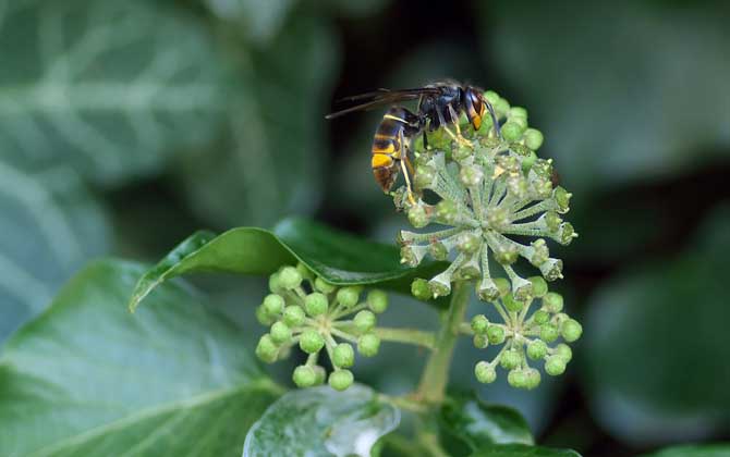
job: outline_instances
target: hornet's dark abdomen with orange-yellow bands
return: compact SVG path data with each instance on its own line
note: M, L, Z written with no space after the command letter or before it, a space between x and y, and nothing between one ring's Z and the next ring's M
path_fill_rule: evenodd
M373 175L384 192L390 190L398 177L398 161L404 152L404 132L413 114L404 108L393 107L382 116L373 138Z

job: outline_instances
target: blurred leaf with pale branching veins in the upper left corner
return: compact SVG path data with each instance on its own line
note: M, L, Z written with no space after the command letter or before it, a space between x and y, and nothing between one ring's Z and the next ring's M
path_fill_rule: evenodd
M199 24L160 2L4 3L0 151L11 163L70 163L114 185L209 141L226 88Z

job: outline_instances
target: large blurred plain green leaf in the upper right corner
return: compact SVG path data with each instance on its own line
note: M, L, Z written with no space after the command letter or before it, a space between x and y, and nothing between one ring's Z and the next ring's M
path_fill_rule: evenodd
M543 149L571 190L645 183L727 157L730 92L718 77L730 74L727 3L479 5L491 18L482 27L489 60L523 90L513 101L535 107L531 124L547 132Z

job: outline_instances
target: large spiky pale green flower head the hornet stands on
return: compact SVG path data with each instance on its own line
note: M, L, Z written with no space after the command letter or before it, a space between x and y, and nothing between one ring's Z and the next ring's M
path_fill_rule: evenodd
M570 209L571 194L553 184L552 161L537 157L543 134L528 125L527 110L511 107L494 91L484 97L499 125L487 113L477 132L462 120L467 138L443 140L445 129L439 128L429 133L435 140L429 139L428 148L415 143L416 197L429 190L440 201L411 202L401 188L394 193L396 206L414 227L441 228L402 231L401 261L415 267L427 255L446 260L453 252L449 268L427 282L428 295L448 295L453 281L477 279L477 294L484 300L498 295L489 271L495 262L504 270L514 297L522 300L532 295L532 285L513 269L521 258L547 281L562 277L562 261L550 257L546 239L568 245L577 236L561 218ZM523 244L518 236L534 239ZM414 294L426 295L422 283L414 285Z

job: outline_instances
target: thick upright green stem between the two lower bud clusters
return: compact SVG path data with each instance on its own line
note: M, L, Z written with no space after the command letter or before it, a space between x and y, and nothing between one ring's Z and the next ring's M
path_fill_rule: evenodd
M454 283L446 321L436 337L434 351L426 362L416 392L416 397L424 402L439 404L443 400L451 356L469 305L469 282L461 281Z

